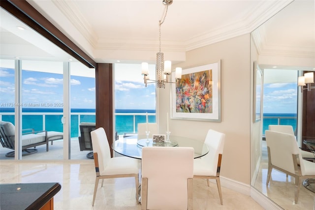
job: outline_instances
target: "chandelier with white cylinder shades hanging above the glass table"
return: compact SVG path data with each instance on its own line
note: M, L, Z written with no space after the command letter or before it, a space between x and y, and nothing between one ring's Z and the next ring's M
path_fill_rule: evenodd
M158 21L159 51L157 53L156 80L152 80L149 78L149 64L141 64L141 74L144 76L143 79L146 87L148 83L157 83L158 88L165 88L165 83L173 83L168 81L168 76L171 74L172 62L164 61L164 54L161 52L161 25L164 23L168 6L173 3L173 0L162 0L162 2L165 5L165 10L162 19ZM175 70L175 79L180 79L182 77L182 68L178 67Z

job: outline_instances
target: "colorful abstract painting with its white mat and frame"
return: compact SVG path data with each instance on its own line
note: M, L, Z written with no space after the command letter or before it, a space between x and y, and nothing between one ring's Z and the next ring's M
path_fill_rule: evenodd
M221 122L221 61L172 72L173 119Z

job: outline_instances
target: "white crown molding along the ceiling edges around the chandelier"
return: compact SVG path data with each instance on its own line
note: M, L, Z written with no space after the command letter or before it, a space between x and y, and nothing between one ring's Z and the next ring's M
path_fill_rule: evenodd
M235 21L220 28L212 29L206 33L195 35L184 42L168 40L163 41L163 51L189 51L209 44L220 42L232 37L251 33L258 26L277 14L293 0L261 1L255 9L249 11L241 21ZM135 39L102 39L97 37L93 27L84 18L73 1L53 1L63 15L91 44L94 50L158 50L156 40Z

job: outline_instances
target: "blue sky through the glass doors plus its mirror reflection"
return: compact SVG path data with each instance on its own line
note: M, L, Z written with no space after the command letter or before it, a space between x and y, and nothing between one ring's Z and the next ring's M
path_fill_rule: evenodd
M154 65L149 71L153 77ZM29 107L30 104L52 104L58 107L63 103L63 75L23 70L22 90L23 107ZM264 113L296 113L296 82L265 84L263 91ZM0 103L1 107L5 107L6 103L14 103L13 69L0 68ZM71 76L71 107L95 108L95 78ZM115 66L115 108L156 108L155 85L148 84L145 87L140 64Z

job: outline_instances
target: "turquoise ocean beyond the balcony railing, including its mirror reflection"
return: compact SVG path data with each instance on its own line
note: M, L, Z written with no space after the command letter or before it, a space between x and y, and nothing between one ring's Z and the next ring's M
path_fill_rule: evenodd
M22 115L22 129L33 128L35 131L63 131L63 124L61 123L63 116L62 108L22 108L22 112L25 112ZM30 112L36 114L27 114ZM148 121L150 123L156 122L156 110L116 109L115 112L115 128L118 135L137 133L136 125L146 122L146 112L153 114L148 115ZM0 113L12 113L9 115L2 114L2 120L14 124L14 108L0 107ZM297 115L295 113L264 113L263 135L265 135L265 130L268 130L269 125L277 125L278 121L280 125L292 125L293 130L296 130ZM95 122L95 109L71 109L71 138L76 138L80 135L79 122Z

